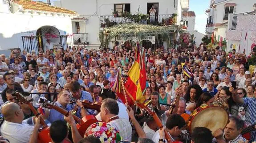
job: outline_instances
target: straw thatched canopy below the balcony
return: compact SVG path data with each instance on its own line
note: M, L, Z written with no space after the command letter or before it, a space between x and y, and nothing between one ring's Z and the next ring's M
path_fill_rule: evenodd
M107 45L108 41L115 37L126 39L127 37L137 36L138 39L143 39L147 36L155 36L155 39L163 39L167 42L171 42L171 39L175 38L174 36L177 32L183 33L185 31L177 25L154 26L146 24L117 24L100 31L99 40L101 43Z

